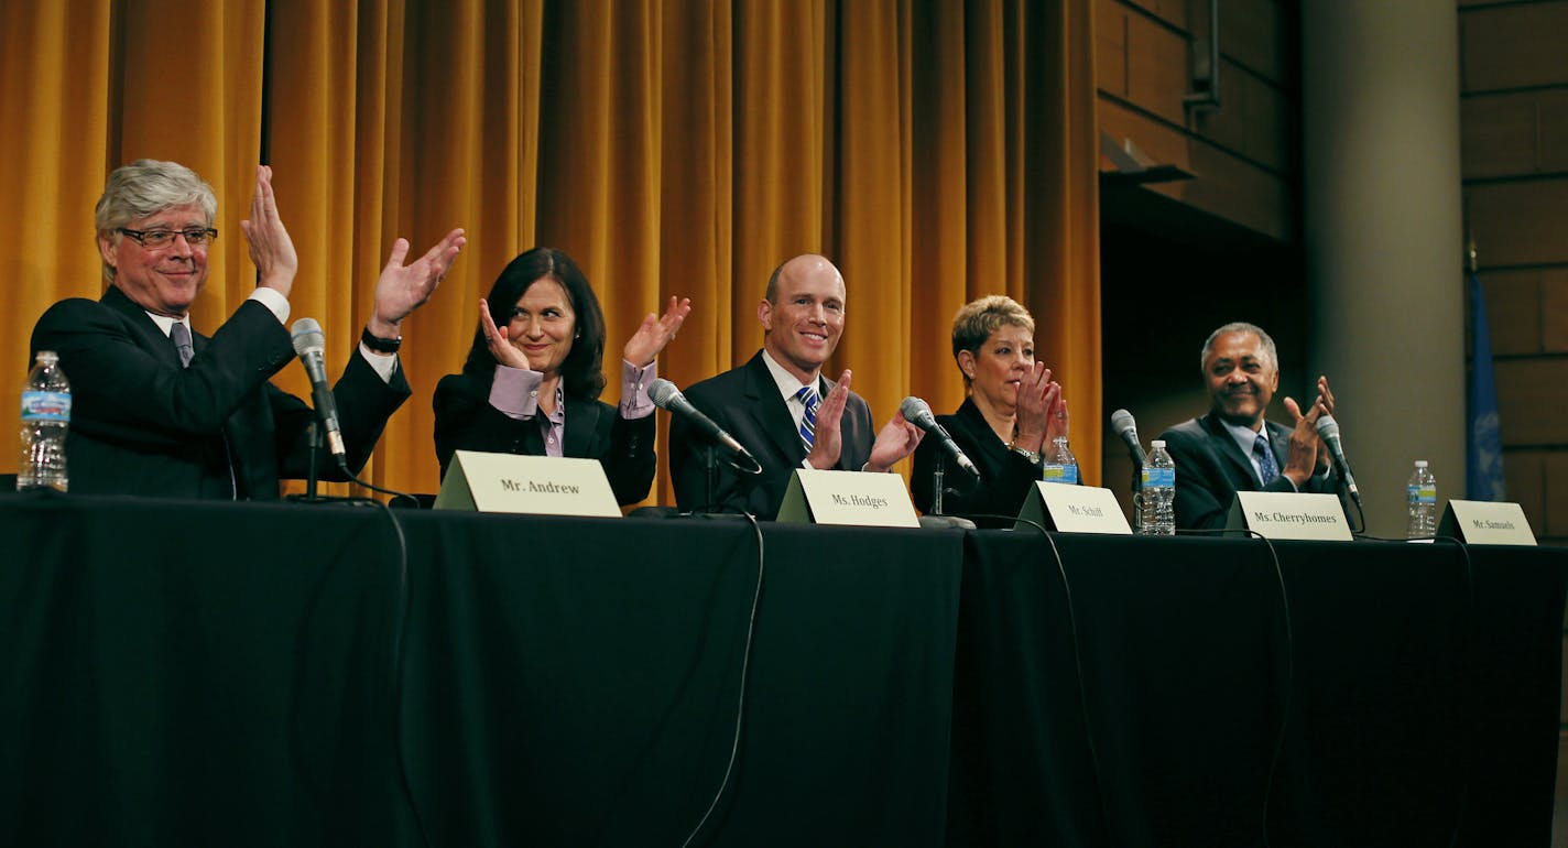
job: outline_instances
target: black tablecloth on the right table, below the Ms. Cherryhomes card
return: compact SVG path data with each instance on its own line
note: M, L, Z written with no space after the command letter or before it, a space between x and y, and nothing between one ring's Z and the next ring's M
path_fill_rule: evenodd
M1549 842L1563 552L1054 541L967 542L953 843Z

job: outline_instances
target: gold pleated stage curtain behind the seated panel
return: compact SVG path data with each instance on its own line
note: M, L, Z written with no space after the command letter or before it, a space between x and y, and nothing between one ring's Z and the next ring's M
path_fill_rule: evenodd
M268 161L301 257L293 315L321 321L334 371L394 240L417 255L469 232L405 326L414 398L367 470L383 486L439 486L431 390L533 245L588 273L612 378L641 317L691 296L659 364L681 386L756 351L773 266L826 254L850 292L829 368L853 368L881 420L909 393L956 408L952 315L1008 293L1035 313L1098 481L1091 25L1091 0L0 0L0 119L25 127L0 136L0 397L38 315L102 292L108 169L174 158L213 183L223 237L193 310L212 331L254 285L238 221ZM306 392L299 368L276 379ZM663 473L651 502L671 502Z

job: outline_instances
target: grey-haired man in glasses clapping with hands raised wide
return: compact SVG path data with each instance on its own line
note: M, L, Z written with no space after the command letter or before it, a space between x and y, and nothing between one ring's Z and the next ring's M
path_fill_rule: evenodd
M295 356L284 324L299 265L271 168L257 168L240 224L259 285L205 337L191 332L190 306L207 282L215 215L212 187L182 165L140 160L110 176L96 210L108 290L56 303L33 328L33 351L56 351L71 381L72 492L276 500L279 478L306 475L314 412L268 382ZM408 266L408 241L392 248L359 353L334 389L353 472L409 395L398 328L463 243L452 230Z

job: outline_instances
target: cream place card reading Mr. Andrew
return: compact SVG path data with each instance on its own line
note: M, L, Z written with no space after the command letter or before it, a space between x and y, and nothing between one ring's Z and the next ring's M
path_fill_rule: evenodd
M615 492L597 459L477 450L452 455L434 508L621 517Z

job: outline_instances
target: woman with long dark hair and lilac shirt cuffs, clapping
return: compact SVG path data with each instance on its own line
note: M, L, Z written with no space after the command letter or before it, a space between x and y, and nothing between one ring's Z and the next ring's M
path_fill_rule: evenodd
M436 386L436 458L445 478L452 453L481 450L593 458L621 505L648 497L654 455L654 357L691 312L670 298L621 351L621 406L604 390L604 312L569 255L535 248L511 260L480 301L480 326L463 373Z

